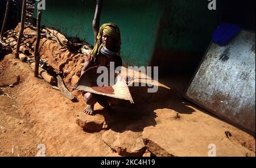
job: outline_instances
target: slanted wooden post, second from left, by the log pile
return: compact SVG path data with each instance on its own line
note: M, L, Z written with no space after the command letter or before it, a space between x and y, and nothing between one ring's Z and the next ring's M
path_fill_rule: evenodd
M17 41L17 45L16 45L15 58L19 58L19 47L20 47L22 36L23 36L24 22L25 22L25 16L26 16L26 2L27 2L27 0L23 0L22 18L20 21L19 37L18 37L18 41Z

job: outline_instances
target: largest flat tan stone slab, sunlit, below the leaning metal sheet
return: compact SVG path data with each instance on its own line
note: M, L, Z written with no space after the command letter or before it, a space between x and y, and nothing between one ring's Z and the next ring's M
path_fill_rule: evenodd
M155 156L208 156L213 154L210 149L215 147L216 156L252 154L244 146L230 141L224 130L213 128L212 132L208 132L204 129L207 127L207 123L204 125L172 120L170 123L144 128L142 139L147 149Z

